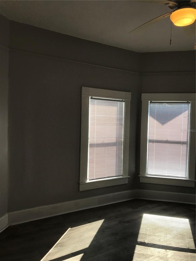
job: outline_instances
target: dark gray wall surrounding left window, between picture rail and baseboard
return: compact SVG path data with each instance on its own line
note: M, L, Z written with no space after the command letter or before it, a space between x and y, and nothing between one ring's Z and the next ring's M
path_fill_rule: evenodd
M9 211L134 188L137 75L17 51L9 75ZM81 86L132 92L127 185L79 192Z

